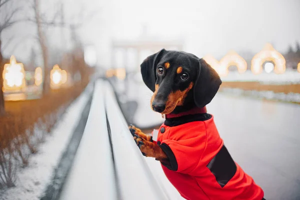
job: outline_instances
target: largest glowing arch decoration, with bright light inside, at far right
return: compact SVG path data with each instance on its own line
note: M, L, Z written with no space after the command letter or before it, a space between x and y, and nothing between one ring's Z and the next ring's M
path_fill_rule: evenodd
M274 63L275 73L284 73L285 59L281 53L276 51L270 43L265 44L263 49L256 53L251 60L251 71L254 74L262 72L262 64L265 61L272 61Z

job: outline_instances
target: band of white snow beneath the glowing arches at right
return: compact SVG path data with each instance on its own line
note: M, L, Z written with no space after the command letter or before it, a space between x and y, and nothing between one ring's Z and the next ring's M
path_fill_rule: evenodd
M286 70L283 74L274 72L254 75L250 70L240 74L237 71L229 71L228 75L221 77L222 81L257 81L263 84L296 84L300 83L300 73L297 71Z

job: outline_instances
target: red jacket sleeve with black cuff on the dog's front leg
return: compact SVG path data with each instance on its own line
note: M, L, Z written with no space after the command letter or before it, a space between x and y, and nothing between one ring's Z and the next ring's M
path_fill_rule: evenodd
M162 164L170 170L189 173L198 165L205 145L205 135L178 141L165 139L161 142L160 147L167 155L169 165Z

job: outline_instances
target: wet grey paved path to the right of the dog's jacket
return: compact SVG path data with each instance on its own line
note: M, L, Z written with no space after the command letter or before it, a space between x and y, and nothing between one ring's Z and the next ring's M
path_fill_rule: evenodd
M266 199L300 199L300 106L218 94L207 106L233 159Z

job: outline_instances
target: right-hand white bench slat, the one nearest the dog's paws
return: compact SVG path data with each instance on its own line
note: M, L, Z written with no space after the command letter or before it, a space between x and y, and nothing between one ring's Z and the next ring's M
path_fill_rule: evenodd
M124 200L168 199L150 172L135 144L126 121L117 104L112 86L106 82L105 109L111 129L115 167Z

